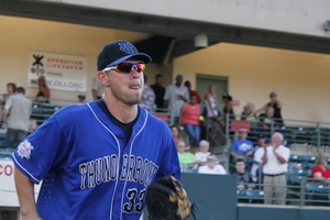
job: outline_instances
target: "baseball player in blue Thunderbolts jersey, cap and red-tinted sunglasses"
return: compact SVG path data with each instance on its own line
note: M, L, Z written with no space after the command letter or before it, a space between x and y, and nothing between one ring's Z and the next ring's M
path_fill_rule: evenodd
M180 178L168 127L138 106L150 62L129 42L107 44L97 61L103 98L63 108L18 146L23 220L138 220L151 183Z

